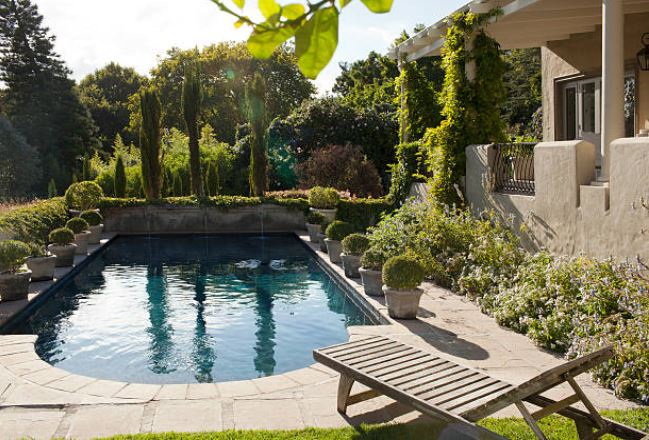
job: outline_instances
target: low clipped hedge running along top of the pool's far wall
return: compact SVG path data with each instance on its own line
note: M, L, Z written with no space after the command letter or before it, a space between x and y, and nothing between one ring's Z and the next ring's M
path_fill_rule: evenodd
M132 208L137 206L203 206L220 209L239 208L243 206L258 206L271 204L284 206L290 210L308 212L309 202L306 199L279 199L272 197L243 197L243 196L215 196L215 197L167 197L159 200L146 200L136 198L118 199L104 197L99 202L102 210L109 208Z

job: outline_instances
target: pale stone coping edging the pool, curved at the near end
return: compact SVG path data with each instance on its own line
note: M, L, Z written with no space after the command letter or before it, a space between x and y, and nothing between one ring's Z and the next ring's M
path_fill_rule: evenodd
M290 233L289 233L290 234ZM360 307L370 319L375 321L370 327L381 325L392 326L395 323L387 313L387 308L380 298L369 297L363 291L359 280L352 280L345 276L340 265L329 261L327 254L309 241L306 231L293 231L293 234L309 248L318 264L327 275L342 289L343 293ZM35 292L25 300L7 319L1 321L0 331L10 328L13 322L18 321L25 314L37 307L40 303L56 291L59 283L64 283L76 275L90 263L99 252L120 234L106 234L99 245L86 256L75 259L75 265L62 271L54 281L35 286ZM41 287L40 289L37 289ZM2 305L0 303L0 305ZM352 340L364 335L362 326L349 326L348 339ZM256 379L213 382L213 383L178 383L178 384L147 384L135 382L121 382L99 379L70 373L43 361L35 350L36 335L3 335L0 334L0 373L6 370L17 381L27 381L46 389L57 392L69 393L69 404L78 403L124 403L124 402L150 402L157 400L202 400L220 397L254 397L268 395L269 393L297 390L307 385L323 383L338 377L338 373L327 367L314 363L308 367L292 370L286 373ZM0 377L1 378L1 377ZM1 385L1 384L0 384ZM0 396L2 395L0 389ZM86 399L87 398L87 399ZM90 399L90 400L88 400ZM101 400L104 399L104 400ZM88 400L88 402L85 402ZM0 399L0 408L6 405Z

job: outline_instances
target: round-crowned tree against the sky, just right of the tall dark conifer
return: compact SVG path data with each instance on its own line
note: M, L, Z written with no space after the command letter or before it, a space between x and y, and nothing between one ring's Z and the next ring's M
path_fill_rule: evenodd
M81 102L99 127L104 151L111 151L118 134L127 144L137 140L137 132L129 130L128 104L145 83L146 78L134 69L117 63L95 70L79 83Z

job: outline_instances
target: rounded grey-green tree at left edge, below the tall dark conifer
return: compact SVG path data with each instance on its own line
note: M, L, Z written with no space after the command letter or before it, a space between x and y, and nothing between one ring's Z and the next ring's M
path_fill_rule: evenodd
M38 151L0 115L0 197L29 194L39 174Z

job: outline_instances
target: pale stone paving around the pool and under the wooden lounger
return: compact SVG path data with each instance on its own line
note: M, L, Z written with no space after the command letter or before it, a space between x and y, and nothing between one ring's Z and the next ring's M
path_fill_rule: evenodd
M304 237L302 237L304 239ZM325 254L319 253L325 261ZM342 269L329 265L342 275ZM362 286L351 281L363 295ZM426 284L420 319L387 318L382 300L364 299L390 324L350 327L351 339L390 335L482 369L511 383L521 383L562 362L525 336L499 327L475 304ZM86 439L112 434L224 429L299 429L359 423L437 423L381 397L350 407L347 417L335 408L337 374L324 366L286 374L218 384L146 385L83 377L43 362L31 335L0 336L0 437ZM629 408L613 393L578 378L599 408ZM561 398L566 388L548 395ZM515 415L511 408L499 415ZM452 437L453 438L453 437ZM457 437L454 437L457 438Z

